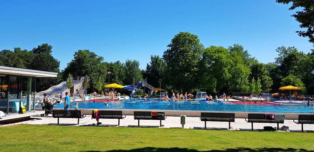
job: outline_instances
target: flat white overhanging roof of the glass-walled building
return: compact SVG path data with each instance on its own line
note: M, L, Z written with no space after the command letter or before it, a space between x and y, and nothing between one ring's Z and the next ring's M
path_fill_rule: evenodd
M39 71L39 70L30 70L30 69L25 69L25 68L0 66L0 74L22 75L22 76L30 76L30 77L54 77L55 78L57 77L58 73Z

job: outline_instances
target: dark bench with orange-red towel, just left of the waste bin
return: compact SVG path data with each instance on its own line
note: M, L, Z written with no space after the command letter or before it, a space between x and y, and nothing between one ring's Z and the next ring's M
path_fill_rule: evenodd
M157 112L157 115L153 114L153 112ZM138 126L139 126L139 120L160 120L161 127L161 120L166 119L166 115L164 111L134 111L134 119L138 120Z

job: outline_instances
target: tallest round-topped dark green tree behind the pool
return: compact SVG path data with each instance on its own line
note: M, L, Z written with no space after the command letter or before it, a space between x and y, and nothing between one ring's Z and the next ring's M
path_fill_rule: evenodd
M162 56L166 64L165 84L179 90L197 88L199 61L204 48L198 36L180 32L167 47Z

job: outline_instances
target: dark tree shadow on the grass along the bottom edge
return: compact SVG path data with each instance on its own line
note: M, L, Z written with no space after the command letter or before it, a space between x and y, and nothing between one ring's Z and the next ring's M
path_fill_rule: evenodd
M83 151L83 152L314 152L305 149L283 149L283 148L235 148L235 149L226 149L226 150L193 150L186 148L154 148L154 147L145 147L133 150L111 150L111 151Z

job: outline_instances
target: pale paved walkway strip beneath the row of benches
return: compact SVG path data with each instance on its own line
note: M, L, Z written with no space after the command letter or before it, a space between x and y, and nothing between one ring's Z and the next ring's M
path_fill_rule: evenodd
M28 120L24 122L2 125L9 126L15 124L30 124L30 125L57 125L57 118L53 118L52 115L41 117L41 116L32 116L35 118L33 120ZM180 117L169 116L166 120L162 121L161 128L182 128L180 124ZM117 126L118 119L100 119L99 122L102 124L99 126ZM96 126L96 119L91 119L91 115L87 115L83 119L73 118L60 118L59 125L67 126ZM137 120L134 120L132 115L127 115L125 119L120 120L119 127L137 127ZM228 130L228 122L207 122L207 129L214 130ZM270 123L254 123L254 130L262 130L264 126L277 127L277 124ZM279 127L288 126L290 131L301 131L301 125L295 124L293 120L285 120L284 124L279 124ZM140 127L159 127L159 120L140 120ZM199 117L186 117L184 129L204 129L205 122L201 121ZM251 130L251 123L247 123L245 119L236 118L235 122L231 123L231 130ZM304 125L304 131L314 132L314 124Z

